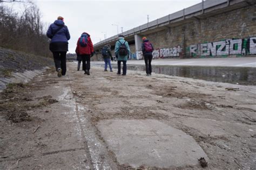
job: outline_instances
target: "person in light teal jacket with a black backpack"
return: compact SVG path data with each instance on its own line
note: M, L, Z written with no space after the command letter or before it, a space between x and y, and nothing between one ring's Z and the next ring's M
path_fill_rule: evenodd
M124 40L123 35L118 36L119 39L116 42L116 46L114 46L114 54L116 54L117 58L117 74L121 74L121 62L123 62L123 74L126 75L126 61L129 59L130 47L127 41Z

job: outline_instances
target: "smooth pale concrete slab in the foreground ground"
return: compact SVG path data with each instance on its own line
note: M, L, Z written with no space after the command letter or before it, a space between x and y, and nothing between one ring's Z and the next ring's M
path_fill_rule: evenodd
M159 168L198 165L208 157L183 131L153 119L110 119L97 125L119 164Z

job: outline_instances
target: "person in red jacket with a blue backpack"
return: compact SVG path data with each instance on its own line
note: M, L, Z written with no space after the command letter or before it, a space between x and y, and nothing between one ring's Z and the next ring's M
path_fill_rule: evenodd
M93 44L90 35L83 32L77 41L77 52L82 57L84 74L90 75L91 57L94 54Z

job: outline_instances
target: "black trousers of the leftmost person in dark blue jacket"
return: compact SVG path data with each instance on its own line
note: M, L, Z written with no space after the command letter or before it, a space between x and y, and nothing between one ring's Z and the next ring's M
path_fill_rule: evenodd
M56 71L62 69L62 75L66 74L66 51L52 52Z

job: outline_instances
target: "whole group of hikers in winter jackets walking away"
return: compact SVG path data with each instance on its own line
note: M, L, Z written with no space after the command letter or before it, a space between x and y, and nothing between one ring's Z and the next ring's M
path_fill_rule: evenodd
M50 51L53 54L57 75L58 77L64 76L66 74L66 53L68 52L68 40L70 39L69 29L64 23L64 18L59 16L57 20L55 20L55 22L49 26L46 35L51 39ZM143 37L142 40L142 52L146 65L146 75L150 76L152 73L151 61L153 58L152 52L154 48L146 37ZM95 54L90 34L83 32L82 35L78 38L76 54L78 60L77 70L80 69L80 64L82 61L82 69L84 70L84 74L90 75L90 61L91 57ZM128 42L124 39L123 35L119 35L114 47L114 55L117 59L118 75L121 75L122 62L122 75L126 75L126 62L129 59L129 54L130 47ZM111 60L113 61L113 56L111 53L110 45L105 45L102 48L102 57L105 62L104 71L107 71L107 65L109 65L110 72L113 72L111 66Z

